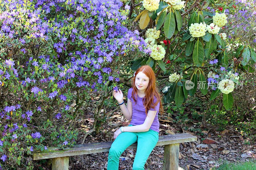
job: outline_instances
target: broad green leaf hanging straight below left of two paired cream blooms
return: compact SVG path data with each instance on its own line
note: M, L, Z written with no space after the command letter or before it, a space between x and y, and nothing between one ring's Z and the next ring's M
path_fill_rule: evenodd
M193 62L196 64L196 66L200 67L204 60L204 48L202 42L199 41L199 38L197 38L197 41L195 42L192 57Z

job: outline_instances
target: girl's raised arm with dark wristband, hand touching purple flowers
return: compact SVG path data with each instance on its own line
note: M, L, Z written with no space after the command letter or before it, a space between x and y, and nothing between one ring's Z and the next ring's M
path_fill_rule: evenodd
M120 89L117 92L114 90L113 96L116 98L119 104L124 102L124 95ZM125 104L122 104L120 105L120 108L125 119L132 119L132 102L130 99L127 100L127 107L125 106Z

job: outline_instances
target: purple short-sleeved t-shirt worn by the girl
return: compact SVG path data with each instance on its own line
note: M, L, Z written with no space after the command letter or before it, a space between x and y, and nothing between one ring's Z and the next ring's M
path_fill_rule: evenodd
M132 101L132 121L130 125L141 125L144 123L146 119L146 109L143 106L143 98L139 97L137 95L137 103L135 105L135 101L132 99L132 88L128 90L128 99ZM135 96L134 96L135 97ZM135 97L136 99L136 97ZM153 100L156 102L156 97ZM158 112L159 112L160 102L154 107L150 108L149 110L156 111L156 116L154 118L154 121L149 129L155 130L159 133L159 120L158 120Z

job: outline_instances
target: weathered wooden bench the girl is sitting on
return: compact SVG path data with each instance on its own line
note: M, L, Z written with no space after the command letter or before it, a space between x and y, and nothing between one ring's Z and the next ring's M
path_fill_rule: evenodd
M164 170L178 170L180 143L197 141L197 137L188 134L159 136L156 146L164 145ZM52 170L68 170L69 156L108 152L112 142L79 144L65 150L49 147L43 152L33 153L34 160L52 159ZM137 143L127 149L137 148Z

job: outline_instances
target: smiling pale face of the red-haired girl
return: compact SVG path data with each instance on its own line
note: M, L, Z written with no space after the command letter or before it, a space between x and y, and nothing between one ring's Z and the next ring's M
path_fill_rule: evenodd
M144 74L142 71L140 71L135 78L135 86L140 92L145 92L149 84L149 78Z

